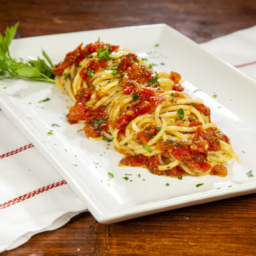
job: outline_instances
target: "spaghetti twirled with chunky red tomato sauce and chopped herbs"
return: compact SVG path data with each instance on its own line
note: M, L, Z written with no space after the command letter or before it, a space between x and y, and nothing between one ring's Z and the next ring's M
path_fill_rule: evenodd
M155 72L118 45L79 45L53 68L61 92L76 102L70 124L88 138L113 141L120 165L144 166L158 175L227 175L222 163L241 159L211 122L203 100L183 92L176 72Z

